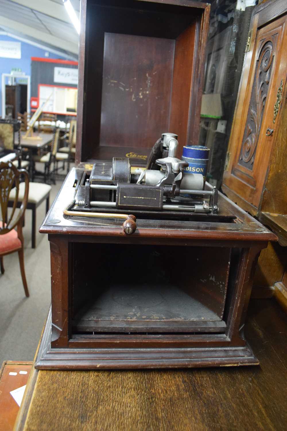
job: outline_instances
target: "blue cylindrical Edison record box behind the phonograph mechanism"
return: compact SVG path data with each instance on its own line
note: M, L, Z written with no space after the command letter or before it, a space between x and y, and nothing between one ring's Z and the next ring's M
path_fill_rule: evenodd
M204 183L207 176L209 148L201 145L187 145L183 147L182 160L188 162L183 172L186 174L202 174Z

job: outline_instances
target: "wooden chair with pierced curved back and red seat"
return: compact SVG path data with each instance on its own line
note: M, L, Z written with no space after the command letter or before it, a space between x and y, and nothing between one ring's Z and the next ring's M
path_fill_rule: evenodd
M20 179L23 175L25 180L25 194L17 215L15 215L16 204L19 194ZM9 194L12 187L16 188L16 199L12 210L8 213ZM0 269L4 274L3 256L18 251L20 270L26 297L29 296L25 269L24 269L24 237L22 234L23 219L27 206L29 193L29 176L25 169L16 169L11 162L0 163ZM17 228L17 231L15 230Z

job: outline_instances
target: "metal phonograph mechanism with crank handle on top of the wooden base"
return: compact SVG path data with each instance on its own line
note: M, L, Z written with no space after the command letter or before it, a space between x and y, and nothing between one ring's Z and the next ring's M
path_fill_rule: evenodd
M151 151L147 169L131 168L127 158L114 157L111 162L96 161L89 177L83 173L80 184L76 184L77 193L64 214L123 218L126 219L123 223L126 234L136 230L136 216L122 214L123 210L139 216L162 214L165 218L173 215L175 219L188 217L191 213L217 215L217 189L204 190L203 174L206 169L196 167L204 161L207 168L208 159L177 158L176 138L173 133L162 134ZM206 150L205 147L194 147L195 152L208 155ZM202 173L191 171L194 161L194 171L197 169Z

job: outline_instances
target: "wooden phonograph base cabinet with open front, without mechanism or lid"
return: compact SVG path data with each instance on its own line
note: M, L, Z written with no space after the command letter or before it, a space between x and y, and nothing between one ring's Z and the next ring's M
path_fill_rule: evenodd
M277 237L219 194L217 222L63 215L74 168L40 232L51 248L52 308L38 369L256 365L244 322L256 262Z

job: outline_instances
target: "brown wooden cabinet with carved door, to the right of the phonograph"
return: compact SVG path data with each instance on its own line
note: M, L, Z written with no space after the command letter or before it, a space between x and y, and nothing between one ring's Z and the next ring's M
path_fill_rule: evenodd
M253 10L222 190L278 235L259 258L256 296L287 307L287 2Z

